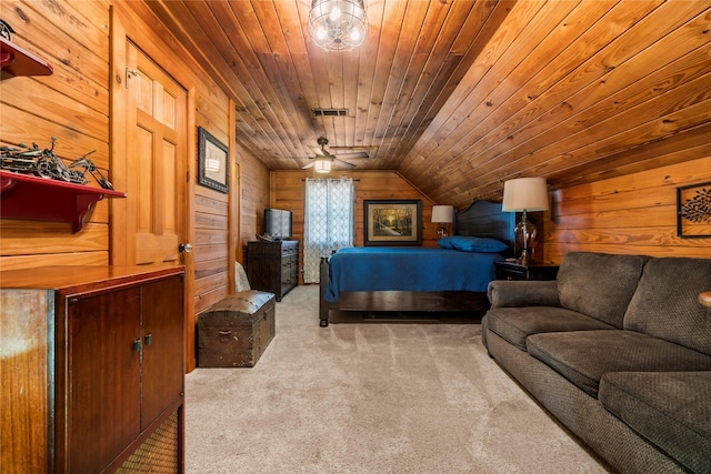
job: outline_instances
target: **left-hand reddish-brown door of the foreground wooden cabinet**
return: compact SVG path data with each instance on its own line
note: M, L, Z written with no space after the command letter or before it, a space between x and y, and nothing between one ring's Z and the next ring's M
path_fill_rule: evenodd
M67 302L67 472L100 472L139 435L139 288Z

